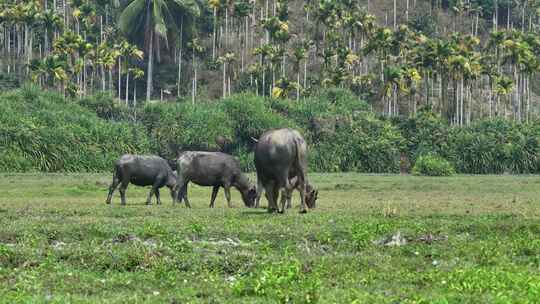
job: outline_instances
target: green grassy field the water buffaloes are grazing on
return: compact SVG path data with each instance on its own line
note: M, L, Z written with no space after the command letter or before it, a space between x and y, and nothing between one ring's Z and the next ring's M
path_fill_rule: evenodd
M540 303L539 176L313 174L306 215L110 179L0 175L0 302Z

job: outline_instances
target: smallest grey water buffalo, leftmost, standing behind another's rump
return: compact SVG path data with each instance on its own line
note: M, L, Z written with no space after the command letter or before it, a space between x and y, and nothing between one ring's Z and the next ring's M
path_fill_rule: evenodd
M156 196L157 203L161 204L159 188L167 186L171 190L171 196L176 197L176 174L172 171L167 161L154 155L131 155L124 154L114 164L113 181L109 187L107 204L111 203L114 190L120 185L120 197L122 205L126 204L126 189L132 183L137 186L152 186L146 204L150 204L152 196Z

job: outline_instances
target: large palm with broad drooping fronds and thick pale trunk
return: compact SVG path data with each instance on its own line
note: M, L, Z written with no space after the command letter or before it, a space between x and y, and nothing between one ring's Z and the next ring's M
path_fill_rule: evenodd
M199 6L193 0L133 0L124 9L119 19L120 30L132 40L141 43L137 35L144 37L143 44L148 54L146 100L152 96L154 52L158 59L161 43L168 47L169 40L179 32L181 16L199 16Z

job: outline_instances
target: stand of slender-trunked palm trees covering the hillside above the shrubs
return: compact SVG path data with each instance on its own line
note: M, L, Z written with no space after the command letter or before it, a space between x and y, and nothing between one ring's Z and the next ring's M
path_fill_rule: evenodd
M0 70L126 103L137 84L147 101L167 88L157 65L174 66L176 93L192 102L213 83L222 97L343 87L387 116L430 106L458 125L532 118L540 1L414 0L401 14L380 2L390 11L357 0L0 0ZM438 31L413 22L420 11Z

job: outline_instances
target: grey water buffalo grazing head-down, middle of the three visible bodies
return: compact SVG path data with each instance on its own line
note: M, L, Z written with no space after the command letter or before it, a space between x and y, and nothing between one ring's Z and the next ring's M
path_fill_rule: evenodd
M248 177L242 173L240 162L233 156L221 152L186 151L177 159L178 194L177 201L184 200L187 207L191 207L187 197L188 183L193 182L199 186L213 187L210 199L210 208L214 202L219 188L225 190L227 204L232 207L230 188L236 188L242 195L244 205L252 207L257 192Z

